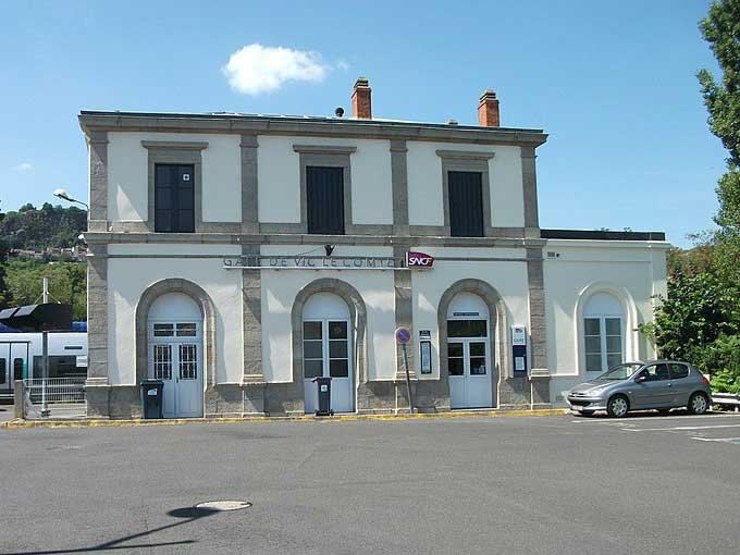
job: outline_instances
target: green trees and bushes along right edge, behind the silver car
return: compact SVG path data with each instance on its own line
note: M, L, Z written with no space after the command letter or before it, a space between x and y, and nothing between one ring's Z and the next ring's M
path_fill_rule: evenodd
M721 71L720 83L698 74L710 130L729 153L715 189L719 229L668 254L668 297L640 330L662 356L711 373L715 391L740 393L740 0L713 2L699 26Z

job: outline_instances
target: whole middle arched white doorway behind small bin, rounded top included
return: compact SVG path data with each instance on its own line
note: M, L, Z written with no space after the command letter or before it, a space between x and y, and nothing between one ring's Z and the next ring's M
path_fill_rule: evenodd
M303 307L304 404L307 414L318 408L314 378L332 378L331 407L355 410L353 330L349 307L332 293L314 293Z

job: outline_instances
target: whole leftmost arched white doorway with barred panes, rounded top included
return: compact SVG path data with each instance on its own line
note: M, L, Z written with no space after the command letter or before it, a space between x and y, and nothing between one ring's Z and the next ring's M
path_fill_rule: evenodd
M164 418L202 417L203 317L183 293L165 293L147 314L147 378L162 380Z

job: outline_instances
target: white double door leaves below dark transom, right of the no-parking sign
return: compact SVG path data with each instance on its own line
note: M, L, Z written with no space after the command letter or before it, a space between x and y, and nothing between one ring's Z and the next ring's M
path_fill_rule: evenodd
M447 372L452 408L483 408L492 405L488 337L448 338Z

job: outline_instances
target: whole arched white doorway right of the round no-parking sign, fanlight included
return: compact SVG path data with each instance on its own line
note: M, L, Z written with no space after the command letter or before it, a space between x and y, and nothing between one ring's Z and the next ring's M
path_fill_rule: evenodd
M493 405L491 317L473 293L456 294L447 307L447 374L451 408Z

